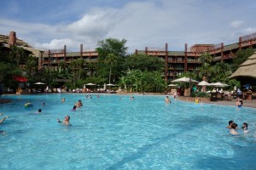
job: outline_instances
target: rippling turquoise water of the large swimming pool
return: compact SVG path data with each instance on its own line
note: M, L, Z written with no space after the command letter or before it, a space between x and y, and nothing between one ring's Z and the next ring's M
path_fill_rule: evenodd
M0 125L0 169L256 169L255 109L99 95L3 96L13 102L0 105L9 116ZM84 106L70 111L79 99ZM70 127L56 121L66 115ZM230 120L247 122L250 133L230 136Z

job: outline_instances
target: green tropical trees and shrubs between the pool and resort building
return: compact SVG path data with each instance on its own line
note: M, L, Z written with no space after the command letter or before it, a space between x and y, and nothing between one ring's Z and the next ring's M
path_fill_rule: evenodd
M126 40L108 38L98 42L97 61L73 59L70 64L61 61L53 67L49 65L38 69L38 58L28 54L23 48L12 46L9 50L0 47L0 81L7 87L17 87L12 78L23 76L28 82L44 81L50 88L67 86L82 88L85 83L93 82L98 85L113 83L126 92L164 92L167 83L164 80L165 61L145 54L128 54ZM254 52L253 48L241 49L228 64L216 61L211 54L201 54L201 67L195 71L183 73L180 77L191 77L207 82L225 82L230 87L239 87L239 82L228 77L236 71L239 65ZM20 67L22 65L22 67ZM58 82L57 80L65 80ZM184 88L193 84L181 83ZM201 95L201 94L196 94ZM202 94L203 95L203 94Z

